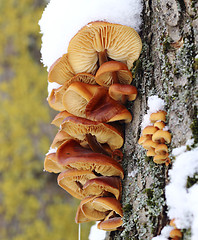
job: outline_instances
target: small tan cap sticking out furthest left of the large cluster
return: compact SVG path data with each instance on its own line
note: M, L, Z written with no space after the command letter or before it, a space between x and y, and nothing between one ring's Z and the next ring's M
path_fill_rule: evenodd
M58 163L56 153L49 153L44 160L44 170L47 172L59 173L65 170L64 166Z

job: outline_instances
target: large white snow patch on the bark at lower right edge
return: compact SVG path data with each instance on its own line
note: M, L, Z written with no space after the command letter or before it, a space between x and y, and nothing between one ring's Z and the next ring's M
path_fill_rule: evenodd
M176 156L176 160L173 168L169 170L170 183L165 189L168 216L170 219L175 218L178 228L191 228L191 239L196 240L198 239L198 184L190 188L187 188L186 184L188 177L198 173L198 148L187 151L186 146L182 146L172 153Z

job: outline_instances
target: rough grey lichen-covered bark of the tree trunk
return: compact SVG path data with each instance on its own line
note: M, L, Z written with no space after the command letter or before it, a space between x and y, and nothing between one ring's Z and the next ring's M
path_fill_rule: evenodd
M168 223L164 191L171 165L156 165L137 144L148 97L158 95L166 103L170 151L192 138L195 129L198 3L145 0L143 4L143 49L133 80L139 95L128 105L133 121L125 127L123 148L124 230L111 232L106 239L151 240ZM188 236L184 233L184 239Z

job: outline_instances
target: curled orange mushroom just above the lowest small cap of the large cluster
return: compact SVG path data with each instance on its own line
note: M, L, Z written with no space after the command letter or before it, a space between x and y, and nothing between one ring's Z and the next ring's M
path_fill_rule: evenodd
M114 211L121 217L123 216L121 204L117 199L113 197L89 196L81 201L75 220L76 223L103 220L111 211Z

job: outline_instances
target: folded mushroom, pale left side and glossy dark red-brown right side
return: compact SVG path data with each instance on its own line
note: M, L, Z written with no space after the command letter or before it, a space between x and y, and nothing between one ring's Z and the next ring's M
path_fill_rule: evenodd
M63 105L69 113L93 121L111 122L132 120L131 113L98 85L72 83L63 95Z

